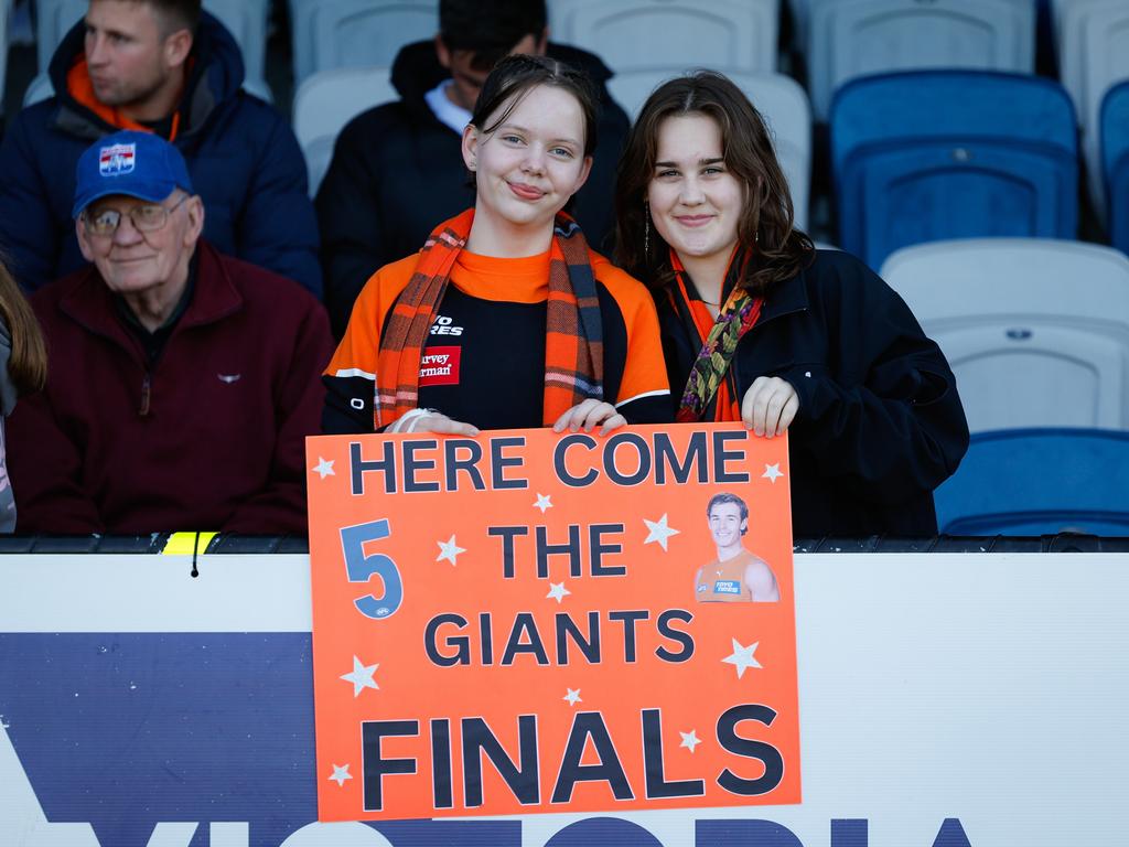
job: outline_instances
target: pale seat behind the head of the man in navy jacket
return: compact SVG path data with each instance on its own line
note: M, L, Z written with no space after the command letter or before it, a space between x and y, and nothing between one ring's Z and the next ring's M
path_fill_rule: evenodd
M40 73L47 72L51 56L63 36L75 24L86 16L89 0L36 0L36 49ZM266 82L263 80L266 56L266 20L270 15L269 0L205 0L204 9L215 15L243 52L246 72L244 88L270 101ZM49 91L50 96L50 91ZM25 95L25 103L27 95Z

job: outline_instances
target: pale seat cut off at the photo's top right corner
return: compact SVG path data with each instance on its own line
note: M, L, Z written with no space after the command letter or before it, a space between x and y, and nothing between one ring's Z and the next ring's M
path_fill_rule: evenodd
M1099 121L1105 91L1129 79L1129 2L1060 1L1058 27L1062 85L1078 112L1089 195L1094 210L1104 219Z

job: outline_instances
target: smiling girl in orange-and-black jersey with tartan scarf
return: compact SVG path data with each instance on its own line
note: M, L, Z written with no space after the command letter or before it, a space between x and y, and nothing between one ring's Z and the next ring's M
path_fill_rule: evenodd
M325 372L324 431L604 434L669 419L650 297L562 212L595 136L581 73L498 63L463 132L474 208L368 280Z

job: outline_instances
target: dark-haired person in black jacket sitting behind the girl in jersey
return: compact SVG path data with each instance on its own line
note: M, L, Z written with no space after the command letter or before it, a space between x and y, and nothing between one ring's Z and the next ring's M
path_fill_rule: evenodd
M315 201L325 304L338 338L378 268L417 252L437 220L473 204L460 149L463 128L490 69L507 54L549 55L595 84L599 143L571 212L593 247L609 247L628 117L607 93L607 67L548 35L544 0L441 0L435 41L409 44L392 67L401 99L361 113L341 131Z

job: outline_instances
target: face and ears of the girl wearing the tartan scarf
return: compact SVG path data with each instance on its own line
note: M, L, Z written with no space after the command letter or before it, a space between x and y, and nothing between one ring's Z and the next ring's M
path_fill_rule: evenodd
M463 133L463 160L475 173L475 225L482 219L499 230L548 233L592 167L584 155L584 113L557 86L539 85L515 97L499 125L493 123L514 98L484 122L489 132L469 125Z

